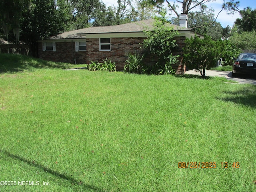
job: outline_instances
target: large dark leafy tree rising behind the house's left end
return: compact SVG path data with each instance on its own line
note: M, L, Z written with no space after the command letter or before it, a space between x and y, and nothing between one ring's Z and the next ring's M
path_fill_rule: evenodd
M31 8L22 14L20 38L37 56L37 40L65 32L70 28L71 10L64 0L31 0Z

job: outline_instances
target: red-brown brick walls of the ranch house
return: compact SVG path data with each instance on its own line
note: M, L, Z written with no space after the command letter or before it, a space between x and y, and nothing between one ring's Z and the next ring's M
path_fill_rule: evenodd
M174 50L174 55L179 54L179 63L173 68L177 70L177 74L183 74L185 72L185 66L182 64L182 48L184 47L185 37L176 37L178 48ZM69 62L74 63L76 58L77 64L89 64L90 61L103 62L106 58L112 62L116 62L117 70L123 70L125 61L127 60L127 53L139 53L143 54L144 50L140 49L140 44L144 38L110 38L111 51L100 51L99 38L87 38L86 49L87 51L75 52L75 42L56 42L56 52L42 51L42 43L38 43L38 55L39 58L44 60ZM146 59L148 64L150 59Z

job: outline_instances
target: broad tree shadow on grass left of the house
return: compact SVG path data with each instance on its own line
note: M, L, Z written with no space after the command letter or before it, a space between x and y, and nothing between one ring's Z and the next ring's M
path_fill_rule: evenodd
M16 54L0 54L0 74L6 72L34 71L39 68L70 68L72 64L51 62Z

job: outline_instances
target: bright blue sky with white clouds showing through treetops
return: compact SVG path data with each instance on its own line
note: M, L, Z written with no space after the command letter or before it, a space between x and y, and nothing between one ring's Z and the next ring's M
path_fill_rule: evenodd
M174 0L168 0L170 2L170 4L173 4ZM228 0L225 0L225 2L227 2ZM106 4L106 7L108 6L117 6L117 0L102 0L102 2L104 2ZM176 1L175 1L176 2ZM222 9L222 3L223 0L215 0L214 2L208 2L206 3L206 5L208 7L212 7L215 12L215 16L217 16L218 12L220 12L220 10ZM176 2L176 4L179 4ZM167 3L165 2L164 5L167 7ZM256 9L256 0L240 0L240 6L239 9L243 10L246 7L251 7L252 10ZM180 13L181 13L181 5L180 5ZM171 17L175 17L176 14L172 13ZM240 18L240 14L239 13L235 13L235 14L227 14L227 12L225 10L222 10L222 12L219 14L218 18L217 18L217 22L220 22L220 24L222 25L222 27L226 27L226 26L233 26L234 22L237 18Z

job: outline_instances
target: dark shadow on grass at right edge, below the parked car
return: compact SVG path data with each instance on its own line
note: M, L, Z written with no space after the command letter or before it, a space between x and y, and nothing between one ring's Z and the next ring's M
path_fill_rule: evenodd
M218 98L218 99L226 102L234 102L236 104L241 104L251 108L256 107L256 86L255 85L246 86L234 92L225 91L224 93L227 94L227 96L224 98Z

